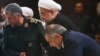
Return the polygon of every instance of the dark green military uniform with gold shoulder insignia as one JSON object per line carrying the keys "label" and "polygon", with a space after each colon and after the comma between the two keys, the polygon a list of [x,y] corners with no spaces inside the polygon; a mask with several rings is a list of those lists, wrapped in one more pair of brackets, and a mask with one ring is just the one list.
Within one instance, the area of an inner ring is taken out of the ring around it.
{"label": "dark green military uniform with gold shoulder insignia", "polygon": [[19,56],[26,52],[26,56],[41,56],[41,40],[44,28],[35,19],[25,19],[22,26],[4,27],[4,56]]}

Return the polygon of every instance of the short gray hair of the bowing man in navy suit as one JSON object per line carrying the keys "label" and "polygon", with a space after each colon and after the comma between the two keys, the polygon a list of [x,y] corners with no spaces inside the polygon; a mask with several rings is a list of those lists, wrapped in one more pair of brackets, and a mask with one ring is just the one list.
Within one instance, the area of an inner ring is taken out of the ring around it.
{"label": "short gray hair of the bowing man in navy suit", "polygon": [[67,31],[67,29],[58,24],[48,25],[45,29],[45,33],[47,34],[53,34],[53,33],[63,34],[65,31]]}

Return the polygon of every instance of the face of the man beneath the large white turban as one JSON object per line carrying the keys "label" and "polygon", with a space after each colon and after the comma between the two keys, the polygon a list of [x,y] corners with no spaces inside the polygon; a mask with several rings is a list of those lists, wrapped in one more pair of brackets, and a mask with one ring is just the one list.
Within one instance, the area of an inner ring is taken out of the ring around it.
{"label": "face of the man beneath the large white turban", "polygon": [[51,10],[47,10],[41,7],[39,8],[39,13],[40,13],[41,20],[46,22],[49,22],[53,17]]}

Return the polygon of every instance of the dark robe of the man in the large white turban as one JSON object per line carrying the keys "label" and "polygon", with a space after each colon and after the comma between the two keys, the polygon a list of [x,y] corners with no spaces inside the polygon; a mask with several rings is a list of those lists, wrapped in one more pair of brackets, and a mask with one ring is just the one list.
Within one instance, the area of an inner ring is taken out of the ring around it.
{"label": "dark robe of the man in the large white turban", "polygon": [[49,22],[49,24],[59,24],[59,25],[66,27],[69,30],[75,30],[75,31],[77,30],[76,26],[70,20],[70,18],[68,18],[67,16],[65,16],[61,13],[58,13],[56,18],[54,20],[52,20],[51,22]]}

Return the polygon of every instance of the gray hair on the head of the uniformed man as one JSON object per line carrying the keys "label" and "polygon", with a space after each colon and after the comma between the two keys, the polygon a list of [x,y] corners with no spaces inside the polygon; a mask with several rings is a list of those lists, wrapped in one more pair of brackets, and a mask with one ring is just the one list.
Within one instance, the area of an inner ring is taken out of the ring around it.
{"label": "gray hair on the head of the uniformed man", "polygon": [[5,12],[10,12],[12,14],[20,13],[22,15],[22,10],[17,3],[10,3],[8,4],[5,9]]}

